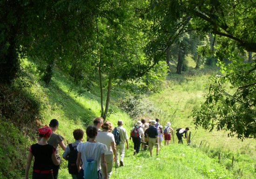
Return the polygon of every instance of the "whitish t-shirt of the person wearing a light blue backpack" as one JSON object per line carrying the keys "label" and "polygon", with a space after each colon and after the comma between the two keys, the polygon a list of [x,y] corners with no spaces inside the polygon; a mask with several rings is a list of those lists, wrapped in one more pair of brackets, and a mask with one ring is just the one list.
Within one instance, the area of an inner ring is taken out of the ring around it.
{"label": "whitish t-shirt of the person wearing a light blue backpack", "polygon": [[93,159],[97,161],[98,171],[101,170],[101,154],[107,150],[107,146],[99,142],[85,142],[78,144],[77,151],[81,152],[83,162],[82,169],[84,169],[84,163],[87,159]]}

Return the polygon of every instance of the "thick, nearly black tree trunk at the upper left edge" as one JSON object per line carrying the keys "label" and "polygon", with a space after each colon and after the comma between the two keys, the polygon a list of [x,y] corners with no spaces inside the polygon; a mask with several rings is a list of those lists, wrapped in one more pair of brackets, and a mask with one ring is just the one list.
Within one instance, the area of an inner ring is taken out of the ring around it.
{"label": "thick, nearly black tree trunk at the upper left edge", "polygon": [[[1,12],[1,25],[4,26],[1,27],[2,34],[0,40],[0,83],[10,85],[20,67],[19,56],[16,50],[16,38],[20,32],[20,19],[24,13],[24,7],[22,1],[14,0],[3,3],[3,6],[7,7],[9,12]],[[15,17],[15,20],[12,20],[13,17]]]}

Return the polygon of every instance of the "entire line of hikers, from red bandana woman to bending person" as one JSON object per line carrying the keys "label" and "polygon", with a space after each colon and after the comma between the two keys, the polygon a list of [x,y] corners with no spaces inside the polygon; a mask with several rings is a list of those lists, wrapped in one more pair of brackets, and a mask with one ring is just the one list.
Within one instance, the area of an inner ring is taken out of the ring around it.
{"label": "entire line of hikers, from red bandana woman to bending person", "polygon": [[[75,129],[73,136],[75,141],[65,146],[64,138],[56,134],[59,122],[52,119],[49,126],[40,128],[39,138],[36,144],[30,146],[25,169],[25,179],[28,179],[29,168],[34,157],[32,179],[58,179],[58,172],[61,163],[61,155],[58,150],[60,146],[64,153],[63,159],[68,160],[68,172],[72,179],[109,179],[115,163],[116,167],[124,166],[125,144],[129,148],[128,133],[122,126],[122,120],[118,120],[117,126],[113,128],[111,122],[102,118],[95,118],[94,125],[86,129],[87,139],[82,142],[84,132]],[[171,139],[170,122],[163,127],[159,124],[159,119],[148,121],[145,119],[137,121],[130,131],[130,139],[134,143],[134,155],[141,150],[150,149],[152,157],[153,147],[156,147],[156,155],[159,152],[164,139],[165,145]],[[176,135],[179,143],[182,142],[182,134],[189,130],[179,128]],[[163,138],[164,136],[164,138]],[[120,154],[119,154],[120,153]],[[120,158],[120,159],[119,159]]]}

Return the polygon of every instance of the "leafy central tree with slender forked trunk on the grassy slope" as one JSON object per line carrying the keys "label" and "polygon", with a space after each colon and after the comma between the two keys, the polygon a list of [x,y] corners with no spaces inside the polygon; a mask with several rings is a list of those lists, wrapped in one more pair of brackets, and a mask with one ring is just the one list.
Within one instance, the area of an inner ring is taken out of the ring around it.
{"label": "leafy central tree with slender forked trunk on the grassy slope", "polygon": [[[145,58],[143,53],[147,39],[144,38],[142,32],[144,27],[141,27],[141,19],[135,12],[141,2],[110,1],[108,3],[101,7],[97,23],[99,43],[97,54],[103,119],[107,118],[111,89],[115,85],[144,83],[149,89],[154,89],[154,85],[151,85],[161,79],[154,79],[152,76],[162,71],[162,68],[157,68],[157,64],[148,67],[152,61]],[[156,70],[155,73],[153,73],[154,70]],[[108,84],[105,109],[102,90],[103,76]],[[144,78],[145,76],[147,78]]]}

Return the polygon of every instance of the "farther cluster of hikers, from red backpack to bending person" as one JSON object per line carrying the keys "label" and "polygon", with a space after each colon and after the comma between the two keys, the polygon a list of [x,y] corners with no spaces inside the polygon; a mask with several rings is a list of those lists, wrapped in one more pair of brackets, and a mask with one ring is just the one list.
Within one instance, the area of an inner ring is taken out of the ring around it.
{"label": "farther cluster of hikers, from red backpack to bending person", "polygon": [[[171,133],[174,131],[171,127],[171,123],[167,122],[166,126],[163,129],[163,126],[159,123],[160,119],[156,118],[155,120],[149,120],[146,123],[145,119],[141,119],[141,121],[137,121],[135,126],[132,128],[130,132],[130,139],[133,140],[134,143],[134,155],[136,155],[140,151],[145,151],[146,147],[149,148],[150,156],[152,157],[152,151],[154,146],[156,147],[156,156],[158,155],[159,148],[162,144],[162,140],[164,139],[164,145],[169,145],[171,140]],[[178,143],[182,143],[183,134],[185,134],[185,138],[187,138],[187,131],[189,127],[178,128],[176,129],[176,136],[178,138]],[[142,145],[141,145],[142,144]]]}

